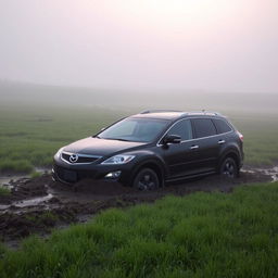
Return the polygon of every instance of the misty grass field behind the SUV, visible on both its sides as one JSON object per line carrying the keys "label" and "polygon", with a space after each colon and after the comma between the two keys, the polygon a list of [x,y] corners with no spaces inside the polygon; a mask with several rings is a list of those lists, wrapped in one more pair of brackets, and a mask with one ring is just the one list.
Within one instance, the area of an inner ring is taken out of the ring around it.
{"label": "misty grass field behind the SUV, visible on both its sides", "polygon": [[[1,105],[0,105],[1,106]],[[0,170],[31,172],[50,166],[62,146],[96,134],[114,121],[136,113],[74,106],[1,106]],[[277,114],[229,113],[244,135],[245,163],[270,165],[278,161]]]}

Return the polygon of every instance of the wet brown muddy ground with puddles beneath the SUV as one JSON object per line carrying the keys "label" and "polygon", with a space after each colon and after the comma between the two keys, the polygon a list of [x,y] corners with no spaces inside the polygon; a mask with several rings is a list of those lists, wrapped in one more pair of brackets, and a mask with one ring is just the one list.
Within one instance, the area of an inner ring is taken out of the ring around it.
{"label": "wet brown muddy ground with puddles beneath the SUV", "polygon": [[116,182],[89,179],[73,188],[53,182],[50,174],[33,179],[21,178],[10,182],[10,195],[0,195],[0,240],[16,247],[18,240],[29,235],[46,236],[53,228],[86,222],[109,207],[150,203],[166,194],[186,195],[215,190],[228,193],[244,184],[276,178],[277,173],[247,167],[235,180],[215,175],[167,185],[155,191],[137,191]]}

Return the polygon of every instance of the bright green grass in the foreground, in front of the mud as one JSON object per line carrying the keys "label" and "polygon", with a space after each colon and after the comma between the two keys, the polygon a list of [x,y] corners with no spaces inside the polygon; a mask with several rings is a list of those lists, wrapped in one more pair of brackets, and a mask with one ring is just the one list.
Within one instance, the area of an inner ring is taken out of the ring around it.
{"label": "bright green grass in the foreground, in front of the mud", "polygon": [[278,277],[278,184],[167,197],[0,247],[0,277]]}

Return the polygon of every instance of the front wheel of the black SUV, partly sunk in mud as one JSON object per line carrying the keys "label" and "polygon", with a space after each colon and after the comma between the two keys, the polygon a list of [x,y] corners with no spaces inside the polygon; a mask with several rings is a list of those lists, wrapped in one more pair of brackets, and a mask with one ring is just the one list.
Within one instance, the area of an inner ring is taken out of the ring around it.
{"label": "front wheel of the black SUV, partly sunk in mud", "polygon": [[138,190],[154,190],[160,187],[157,174],[150,168],[139,170],[134,179],[132,187]]}

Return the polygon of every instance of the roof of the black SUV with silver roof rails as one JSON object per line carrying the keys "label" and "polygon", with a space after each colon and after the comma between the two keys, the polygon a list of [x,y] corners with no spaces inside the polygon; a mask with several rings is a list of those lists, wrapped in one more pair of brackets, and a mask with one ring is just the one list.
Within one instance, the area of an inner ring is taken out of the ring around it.
{"label": "roof of the black SUV with silver roof rails", "polygon": [[132,115],[131,117],[140,117],[140,118],[161,118],[161,119],[177,119],[177,118],[182,118],[187,116],[214,116],[214,117],[223,117],[219,113],[217,112],[184,112],[184,111],[170,111],[170,110],[147,110],[143,111],[139,114]]}

